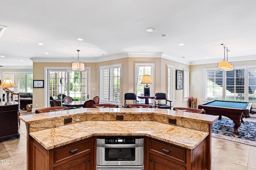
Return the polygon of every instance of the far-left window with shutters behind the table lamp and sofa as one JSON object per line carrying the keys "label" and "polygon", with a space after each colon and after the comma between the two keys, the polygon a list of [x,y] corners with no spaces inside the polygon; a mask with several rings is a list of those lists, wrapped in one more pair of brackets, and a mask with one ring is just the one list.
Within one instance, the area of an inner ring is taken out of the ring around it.
{"label": "far-left window with shutters behind the table lamp and sofa", "polygon": [[16,85],[15,88],[9,88],[15,93],[33,92],[33,74],[31,73],[3,73],[3,80],[10,78]]}

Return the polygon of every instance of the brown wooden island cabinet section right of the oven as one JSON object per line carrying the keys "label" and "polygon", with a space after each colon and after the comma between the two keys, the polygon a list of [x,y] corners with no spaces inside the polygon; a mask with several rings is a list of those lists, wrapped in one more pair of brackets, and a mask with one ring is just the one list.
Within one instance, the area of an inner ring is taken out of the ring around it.
{"label": "brown wooden island cabinet section right of the oven", "polygon": [[[195,149],[186,149],[152,138],[145,138],[148,150],[145,154],[149,170],[205,170],[206,139]],[[148,143],[148,144],[147,144]]]}

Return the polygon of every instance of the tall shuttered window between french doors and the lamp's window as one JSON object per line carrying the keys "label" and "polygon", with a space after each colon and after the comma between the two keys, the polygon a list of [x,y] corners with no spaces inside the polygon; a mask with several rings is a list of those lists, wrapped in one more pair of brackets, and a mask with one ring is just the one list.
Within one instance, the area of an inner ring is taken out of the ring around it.
{"label": "tall shuttered window between french doors and the lamp's window", "polygon": [[122,64],[100,66],[100,102],[121,104]]}

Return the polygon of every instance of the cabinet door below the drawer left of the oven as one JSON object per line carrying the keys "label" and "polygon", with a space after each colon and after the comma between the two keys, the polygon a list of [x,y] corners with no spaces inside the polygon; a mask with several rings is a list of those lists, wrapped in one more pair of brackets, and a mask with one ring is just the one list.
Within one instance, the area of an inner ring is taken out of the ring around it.
{"label": "cabinet door below the drawer left of the oven", "polygon": [[71,160],[65,164],[57,166],[54,170],[90,170],[91,168],[91,153]]}

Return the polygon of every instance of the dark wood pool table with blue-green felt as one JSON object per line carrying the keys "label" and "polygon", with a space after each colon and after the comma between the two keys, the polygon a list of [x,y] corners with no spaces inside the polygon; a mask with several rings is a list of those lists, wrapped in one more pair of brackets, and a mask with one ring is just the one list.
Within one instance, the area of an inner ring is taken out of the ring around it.
{"label": "dark wood pool table with blue-green felt", "polygon": [[250,117],[249,113],[252,109],[252,103],[211,100],[199,104],[198,109],[204,109],[208,115],[218,115],[219,119],[222,118],[222,115],[230,118],[235,124],[234,133],[238,134],[238,127],[240,127],[241,122],[244,122],[243,118]]}

